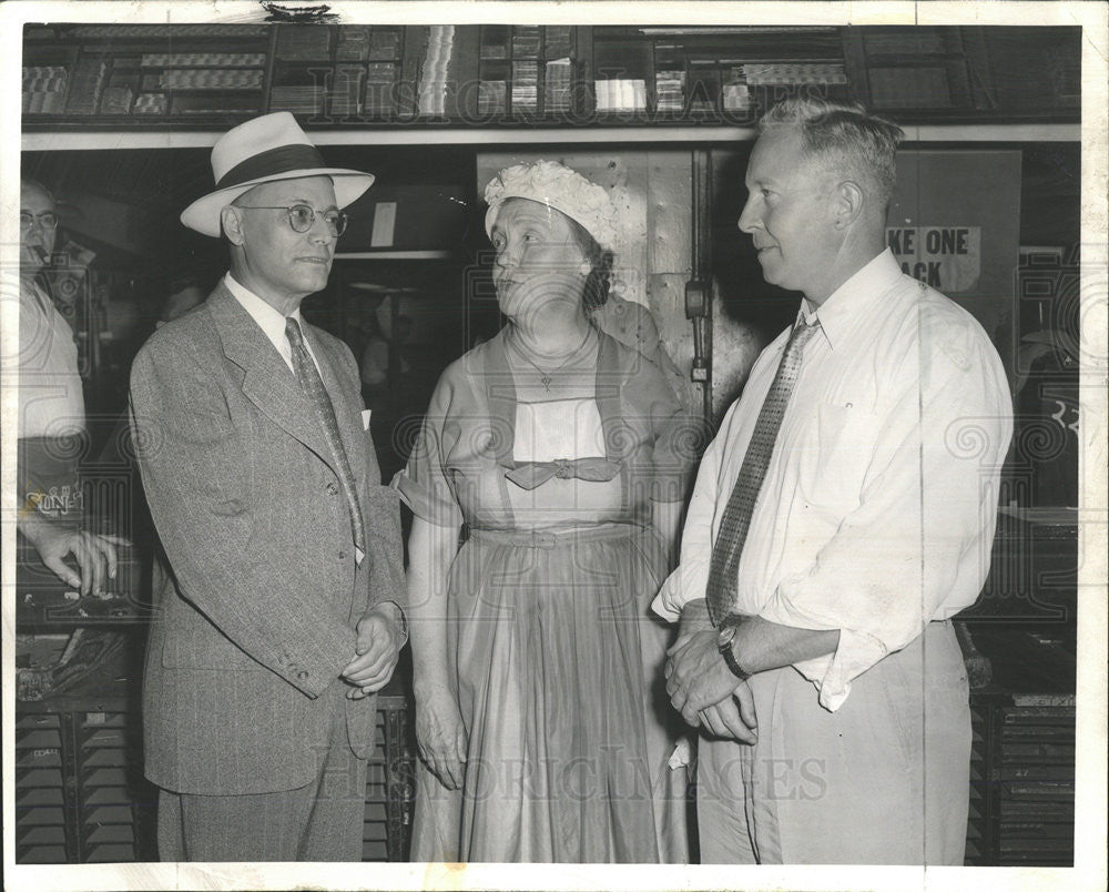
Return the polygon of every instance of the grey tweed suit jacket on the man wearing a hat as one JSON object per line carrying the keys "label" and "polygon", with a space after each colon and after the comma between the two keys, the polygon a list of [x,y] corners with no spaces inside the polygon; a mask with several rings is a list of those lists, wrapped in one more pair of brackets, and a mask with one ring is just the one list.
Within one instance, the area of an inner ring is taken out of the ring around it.
{"label": "grey tweed suit jacket on the man wearing a hat", "polygon": [[143,679],[147,777],[183,793],[307,783],[335,710],[373,747],[376,698],[339,672],[375,604],[404,604],[399,505],[362,417],[349,348],[304,326],[357,485],[367,554],[355,561],[335,459],[296,377],[221,283],[135,358],[131,412],[167,561],[155,579]]}

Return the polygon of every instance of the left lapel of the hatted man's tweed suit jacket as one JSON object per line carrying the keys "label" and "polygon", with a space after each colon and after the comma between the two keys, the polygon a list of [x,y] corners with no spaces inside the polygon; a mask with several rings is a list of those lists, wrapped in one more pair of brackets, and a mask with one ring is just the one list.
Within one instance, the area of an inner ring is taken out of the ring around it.
{"label": "left lapel of the hatted man's tweed suit jacket", "polygon": [[315,408],[269,338],[222,283],[208,305],[224,354],[243,369],[243,395],[337,473]]}

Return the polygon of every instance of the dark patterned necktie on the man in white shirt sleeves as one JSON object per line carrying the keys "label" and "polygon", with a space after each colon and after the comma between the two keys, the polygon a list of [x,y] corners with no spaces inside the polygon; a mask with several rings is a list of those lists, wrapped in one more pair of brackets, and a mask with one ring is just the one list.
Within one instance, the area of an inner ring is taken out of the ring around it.
{"label": "dark patterned necktie on the man in white shirt sleeves", "polygon": [[759,490],[766,476],[770,457],[774,453],[774,440],[777,438],[777,429],[782,426],[782,416],[790,403],[793,386],[797,383],[805,344],[816,334],[820,326],[818,320],[812,325],[794,325],[785,345],[785,353],[782,355],[782,363],[777,367],[777,374],[774,375],[774,383],[770,386],[766,401],[759,413],[759,420],[755,422],[755,429],[751,435],[751,443],[747,444],[747,452],[743,456],[735,488],[732,489],[728,507],[724,508],[720,533],[716,534],[716,543],[712,548],[709,587],[705,592],[709,618],[713,626],[720,625],[720,620],[728,616],[735,602],[740,555],[743,554],[743,544],[751,526],[751,513],[754,510],[755,499],[759,498]]}

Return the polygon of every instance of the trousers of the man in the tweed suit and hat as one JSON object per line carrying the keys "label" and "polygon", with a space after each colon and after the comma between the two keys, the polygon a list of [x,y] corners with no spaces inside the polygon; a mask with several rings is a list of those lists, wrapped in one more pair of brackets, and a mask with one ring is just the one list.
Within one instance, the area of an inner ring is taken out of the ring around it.
{"label": "trousers of the man in the tweed suit and hat", "polygon": [[162,861],[362,861],[366,760],[347,742],[343,685],[333,699],[330,737],[319,770],[295,790],[197,795],[161,790]]}

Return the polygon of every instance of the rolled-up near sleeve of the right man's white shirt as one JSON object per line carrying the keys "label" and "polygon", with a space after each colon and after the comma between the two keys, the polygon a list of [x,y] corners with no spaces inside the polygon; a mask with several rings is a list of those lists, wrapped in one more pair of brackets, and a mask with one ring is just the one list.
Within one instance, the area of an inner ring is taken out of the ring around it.
{"label": "rolled-up near sleeve of the right man's white shirt", "polygon": [[985,334],[944,334],[906,359],[905,386],[876,416],[858,507],[760,611],[785,626],[840,630],[834,653],[796,665],[830,710],[929,621],[974,604],[989,569],[1011,403]]}

